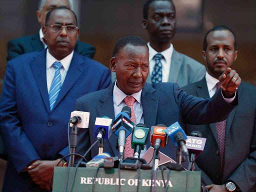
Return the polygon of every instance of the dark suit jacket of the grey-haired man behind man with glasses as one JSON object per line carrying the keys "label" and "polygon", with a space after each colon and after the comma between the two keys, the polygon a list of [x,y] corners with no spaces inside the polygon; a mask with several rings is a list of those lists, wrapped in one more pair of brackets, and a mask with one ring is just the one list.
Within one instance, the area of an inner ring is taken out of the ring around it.
{"label": "dark suit jacket of the grey-haired man behind man with glasses", "polygon": [[[19,38],[12,39],[7,43],[7,61],[13,59],[21,54],[33,52],[37,50],[44,49],[42,42],[40,41],[39,33],[34,35],[22,36]],[[85,42],[81,42],[79,40],[76,41],[76,45],[74,50],[83,56],[87,56],[88,58],[93,58],[96,49],[94,46],[87,44]]]}

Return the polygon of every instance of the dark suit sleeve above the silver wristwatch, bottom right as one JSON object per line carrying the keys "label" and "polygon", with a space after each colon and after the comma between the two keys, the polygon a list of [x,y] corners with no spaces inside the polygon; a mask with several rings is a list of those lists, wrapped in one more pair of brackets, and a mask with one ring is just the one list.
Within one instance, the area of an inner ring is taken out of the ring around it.
{"label": "dark suit sleeve above the silver wristwatch, bottom right", "polygon": [[[234,183],[241,189],[242,192],[247,192],[256,183],[256,117],[254,116],[254,128],[251,137],[250,154],[241,162],[235,169],[228,180]],[[239,141],[237,141],[239,142]],[[235,152],[235,151],[233,151]]]}

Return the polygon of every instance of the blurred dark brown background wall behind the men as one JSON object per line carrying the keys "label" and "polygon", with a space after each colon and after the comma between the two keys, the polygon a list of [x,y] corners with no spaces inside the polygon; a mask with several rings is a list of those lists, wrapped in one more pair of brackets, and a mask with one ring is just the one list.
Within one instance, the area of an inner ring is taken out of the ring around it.
{"label": "blurred dark brown background wall behind the men", "polygon": [[[73,0],[73,9],[78,14],[79,39],[96,47],[95,60],[108,66],[115,42],[125,35],[139,35],[148,40],[147,32],[141,27],[145,1]],[[177,5],[180,1],[183,2],[176,6],[176,12],[181,11],[182,3],[193,4],[198,0],[174,0],[174,3]],[[6,44],[13,38],[38,32],[37,3],[38,0],[0,0],[0,92],[6,66]],[[200,6],[201,16],[196,17],[199,19],[196,22],[201,26],[196,30],[177,30],[172,41],[174,48],[204,64],[201,56],[204,34],[214,25],[226,25],[236,33],[238,44],[233,68],[243,80],[256,84],[256,0],[201,0]],[[177,15],[177,23],[181,22]],[[2,171],[4,168],[0,168]]]}

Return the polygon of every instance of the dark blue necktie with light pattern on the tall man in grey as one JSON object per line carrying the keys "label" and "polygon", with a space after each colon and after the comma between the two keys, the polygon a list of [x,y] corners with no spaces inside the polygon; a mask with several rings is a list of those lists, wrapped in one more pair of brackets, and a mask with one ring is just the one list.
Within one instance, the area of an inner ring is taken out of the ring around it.
{"label": "dark blue necktie with light pattern on the tall man in grey", "polygon": [[151,75],[152,84],[162,81],[162,58],[163,56],[160,53],[154,55],[155,64]]}

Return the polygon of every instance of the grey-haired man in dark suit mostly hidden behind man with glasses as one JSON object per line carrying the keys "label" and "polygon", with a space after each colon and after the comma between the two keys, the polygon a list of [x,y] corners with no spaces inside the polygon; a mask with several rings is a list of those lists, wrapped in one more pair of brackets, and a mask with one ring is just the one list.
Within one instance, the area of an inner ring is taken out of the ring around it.
{"label": "grey-haired man in dark suit mostly hidden behind man with glasses", "polygon": [[[47,12],[59,6],[71,7],[70,0],[39,0],[38,10],[36,11],[36,16],[38,22],[41,26],[37,34],[22,36],[19,38],[12,39],[7,43],[7,61],[13,59],[20,54],[32,52],[36,50],[42,50],[47,47],[47,44],[44,42],[44,37],[42,34],[42,27],[44,26],[45,16]],[[83,56],[93,58],[96,50],[95,47],[87,44],[85,42],[76,41],[74,50]]]}

